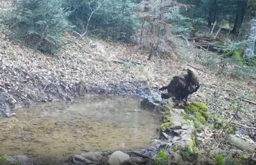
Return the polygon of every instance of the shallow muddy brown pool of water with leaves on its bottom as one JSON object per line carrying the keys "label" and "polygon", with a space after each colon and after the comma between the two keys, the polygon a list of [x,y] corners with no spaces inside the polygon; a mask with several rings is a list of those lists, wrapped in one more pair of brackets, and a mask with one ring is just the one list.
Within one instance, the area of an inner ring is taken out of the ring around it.
{"label": "shallow muddy brown pool of water with leaves on its bottom", "polygon": [[39,104],[0,119],[0,155],[61,159],[84,151],[147,148],[157,137],[160,118],[133,98]]}

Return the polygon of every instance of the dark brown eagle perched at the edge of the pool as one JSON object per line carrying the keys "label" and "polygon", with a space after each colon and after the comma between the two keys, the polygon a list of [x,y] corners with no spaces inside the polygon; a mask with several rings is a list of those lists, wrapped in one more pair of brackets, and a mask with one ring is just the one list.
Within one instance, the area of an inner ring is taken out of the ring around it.
{"label": "dark brown eagle perched at the edge of the pool", "polygon": [[183,106],[182,101],[185,99],[186,104],[189,104],[187,97],[196,92],[200,85],[197,76],[190,69],[186,69],[187,74],[174,76],[168,86],[162,87],[159,90],[167,90],[168,93],[162,93],[162,99],[174,97],[177,99],[179,106]]}

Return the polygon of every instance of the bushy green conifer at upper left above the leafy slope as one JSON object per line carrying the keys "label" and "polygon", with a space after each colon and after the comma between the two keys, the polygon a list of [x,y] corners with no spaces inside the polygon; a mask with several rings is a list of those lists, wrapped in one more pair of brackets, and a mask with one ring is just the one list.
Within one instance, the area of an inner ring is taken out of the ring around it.
{"label": "bushy green conifer at upper left above the leafy slope", "polygon": [[40,51],[54,53],[63,41],[63,33],[70,29],[70,12],[64,11],[63,2],[16,0],[13,5],[14,10],[5,17],[12,37]]}

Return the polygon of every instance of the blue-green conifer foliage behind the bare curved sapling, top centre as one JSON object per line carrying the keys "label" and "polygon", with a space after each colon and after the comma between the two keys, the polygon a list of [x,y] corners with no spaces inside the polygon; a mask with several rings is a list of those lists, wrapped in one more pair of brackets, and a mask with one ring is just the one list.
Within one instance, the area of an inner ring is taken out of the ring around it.
{"label": "blue-green conifer foliage behind the bare curved sapling, top centre", "polygon": [[89,30],[112,40],[127,41],[139,28],[140,22],[133,12],[134,6],[135,2],[130,0],[66,0],[66,8],[72,11],[69,20],[76,25],[77,32],[85,32],[89,17],[95,11],[88,23]]}

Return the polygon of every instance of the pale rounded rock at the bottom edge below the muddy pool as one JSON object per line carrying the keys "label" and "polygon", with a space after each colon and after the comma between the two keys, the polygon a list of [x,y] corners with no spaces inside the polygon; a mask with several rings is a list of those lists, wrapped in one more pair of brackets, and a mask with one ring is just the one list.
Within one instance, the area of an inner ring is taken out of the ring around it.
{"label": "pale rounded rock at the bottom edge below the muddy pool", "polygon": [[121,151],[116,151],[113,154],[111,154],[110,156],[108,156],[106,164],[108,164],[108,165],[130,165],[130,164],[132,164],[132,161],[130,161],[129,154],[123,153]]}

